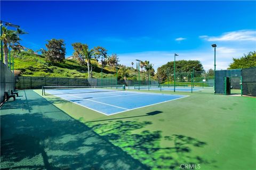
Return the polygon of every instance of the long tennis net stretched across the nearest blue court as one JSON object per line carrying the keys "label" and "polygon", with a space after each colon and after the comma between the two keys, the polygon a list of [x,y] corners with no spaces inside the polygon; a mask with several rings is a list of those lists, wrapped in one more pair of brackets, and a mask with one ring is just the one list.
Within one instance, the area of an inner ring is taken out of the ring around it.
{"label": "long tennis net stretched across the nearest blue court", "polygon": [[119,86],[42,86],[44,95],[68,95],[91,92],[111,92],[125,90],[124,85]]}

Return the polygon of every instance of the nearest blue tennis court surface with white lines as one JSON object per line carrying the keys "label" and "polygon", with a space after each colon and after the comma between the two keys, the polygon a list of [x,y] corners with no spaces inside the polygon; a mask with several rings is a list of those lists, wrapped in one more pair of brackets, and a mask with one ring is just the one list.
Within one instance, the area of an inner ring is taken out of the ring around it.
{"label": "nearest blue tennis court surface with white lines", "polygon": [[132,109],[187,97],[185,95],[114,90],[85,92],[83,89],[49,89],[45,92],[105,115],[131,111]]}

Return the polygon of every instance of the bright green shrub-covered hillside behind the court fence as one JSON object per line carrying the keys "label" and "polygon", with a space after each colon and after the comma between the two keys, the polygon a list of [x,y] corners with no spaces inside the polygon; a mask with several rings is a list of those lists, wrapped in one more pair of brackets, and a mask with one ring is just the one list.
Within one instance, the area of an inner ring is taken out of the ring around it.
{"label": "bright green shrub-covered hillside behind the court fence", "polygon": [[[87,78],[87,67],[80,66],[76,61],[65,60],[65,63],[47,65],[44,57],[28,52],[22,52],[14,57],[15,74],[34,77],[62,77],[62,78]],[[93,78],[101,78],[100,67],[95,67]],[[115,72],[103,70],[103,78],[114,77]]]}

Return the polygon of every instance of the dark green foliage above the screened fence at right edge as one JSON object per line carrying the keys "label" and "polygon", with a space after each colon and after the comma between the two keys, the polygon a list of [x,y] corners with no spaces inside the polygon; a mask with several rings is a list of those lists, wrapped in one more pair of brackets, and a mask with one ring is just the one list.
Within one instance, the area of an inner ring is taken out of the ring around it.
{"label": "dark green foliage above the screened fence at right edge", "polygon": [[256,67],[256,52],[249,52],[244,54],[241,58],[233,58],[233,63],[231,63],[228,69],[246,69],[250,67]]}

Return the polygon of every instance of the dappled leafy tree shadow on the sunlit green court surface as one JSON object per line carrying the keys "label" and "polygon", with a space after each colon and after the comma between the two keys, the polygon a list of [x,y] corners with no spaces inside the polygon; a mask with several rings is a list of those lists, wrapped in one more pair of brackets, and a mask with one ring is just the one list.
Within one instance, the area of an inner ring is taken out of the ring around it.
{"label": "dappled leafy tree shadow on the sunlit green court surface", "polygon": [[[179,169],[181,164],[212,165],[215,163],[214,160],[209,161],[193,153],[193,149],[207,145],[203,141],[180,134],[162,137],[162,131],[134,132],[142,128],[147,129],[146,126],[152,124],[149,121],[118,120],[95,123],[86,124],[151,169]],[[161,147],[161,140],[166,141],[170,147]]]}

